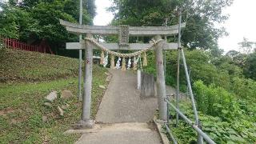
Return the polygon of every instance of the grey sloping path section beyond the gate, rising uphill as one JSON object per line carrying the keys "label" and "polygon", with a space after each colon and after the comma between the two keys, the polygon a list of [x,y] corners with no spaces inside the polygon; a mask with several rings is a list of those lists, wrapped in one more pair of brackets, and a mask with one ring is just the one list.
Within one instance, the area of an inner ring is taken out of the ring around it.
{"label": "grey sloping path section beyond the gate, rising uphill", "polygon": [[96,115],[97,122],[147,122],[154,117],[157,98],[140,98],[136,74],[110,70],[113,75]]}

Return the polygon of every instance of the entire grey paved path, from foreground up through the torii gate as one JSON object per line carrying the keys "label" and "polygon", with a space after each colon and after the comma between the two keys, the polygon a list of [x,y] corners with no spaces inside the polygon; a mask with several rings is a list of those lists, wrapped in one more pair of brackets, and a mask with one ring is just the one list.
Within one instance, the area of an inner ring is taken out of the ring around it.
{"label": "entire grey paved path, from foreground up through the torii gate", "polygon": [[96,115],[98,124],[83,131],[78,144],[160,144],[154,126],[147,124],[158,107],[157,98],[140,98],[136,74],[110,70],[113,75]]}

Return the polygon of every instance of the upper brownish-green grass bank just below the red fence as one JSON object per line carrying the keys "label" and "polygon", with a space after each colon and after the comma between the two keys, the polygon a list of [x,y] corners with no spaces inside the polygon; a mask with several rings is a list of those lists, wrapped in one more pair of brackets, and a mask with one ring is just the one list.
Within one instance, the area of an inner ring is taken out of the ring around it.
{"label": "upper brownish-green grass bank just below the red fence", "polygon": [[78,60],[23,50],[0,50],[0,82],[38,82],[78,74]]}

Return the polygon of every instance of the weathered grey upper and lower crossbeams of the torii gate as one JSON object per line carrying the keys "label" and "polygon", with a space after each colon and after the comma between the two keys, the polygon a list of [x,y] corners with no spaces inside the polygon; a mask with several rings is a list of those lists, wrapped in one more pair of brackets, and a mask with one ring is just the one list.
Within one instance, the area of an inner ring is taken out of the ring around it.
{"label": "weathered grey upper and lower crossbeams of the torii gate", "polygon": [[[170,36],[178,34],[178,25],[174,26],[87,26],[60,20],[62,26],[73,34],[98,34],[98,35],[119,35],[118,43],[102,42],[101,45],[109,50],[142,50],[150,46],[149,43],[129,43],[129,36]],[[181,27],[185,27],[182,23]],[[66,49],[84,49],[79,42],[66,43]],[[177,50],[178,43],[163,42],[163,50]]]}

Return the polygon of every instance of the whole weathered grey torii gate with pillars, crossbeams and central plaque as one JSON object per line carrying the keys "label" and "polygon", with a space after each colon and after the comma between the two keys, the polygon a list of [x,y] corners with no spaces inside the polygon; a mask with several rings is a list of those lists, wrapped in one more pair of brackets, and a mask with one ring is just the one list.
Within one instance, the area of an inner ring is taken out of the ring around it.
{"label": "whole weathered grey torii gate with pillars, crossbeams and central plaque", "polygon": [[[155,45],[156,68],[157,68],[157,94],[160,119],[166,121],[166,82],[163,68],[162,50],[178,50],[178,43],[160,41],[162,36],[178,34],[178,25],[175,26],[86,26],[60,20],[66,30],[74,34],[86,34],[86,38],[93,38],[97,35],[119,35],[118,43],[100,42],[99,44],[109,50],[143,50],[149,47],[150,43],[129,43],[129,36],[154,37],[158,43]],[[182,23],[181,27],[185,27]],[[93,45],[88,41],[68,42],[66,49],[85,50],[85,76],[84,94],[82,98],[82,120],[78,122],[78,128],[92,128],[94,121],[90,119],[91,88],[92,88],[92,66],[93,66]]]}

